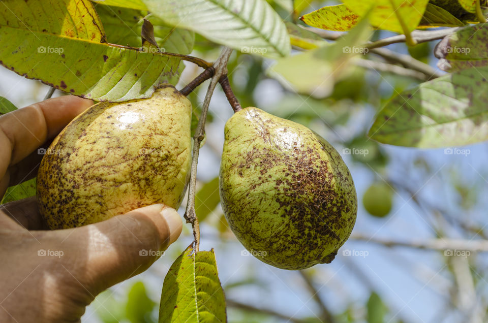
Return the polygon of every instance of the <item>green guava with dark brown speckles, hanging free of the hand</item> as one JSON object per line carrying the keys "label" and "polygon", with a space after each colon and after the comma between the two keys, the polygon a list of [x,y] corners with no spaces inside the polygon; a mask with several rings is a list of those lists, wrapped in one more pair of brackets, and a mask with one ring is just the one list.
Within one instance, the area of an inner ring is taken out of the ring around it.
{"label": "green guava with dark brown speckles, hanging free of the hand", "polygon": [[339,153],[306,126],[254,107],[225,125],[219,185],[237,239],[278,268],[330,263],[356,220],[356,190]]}

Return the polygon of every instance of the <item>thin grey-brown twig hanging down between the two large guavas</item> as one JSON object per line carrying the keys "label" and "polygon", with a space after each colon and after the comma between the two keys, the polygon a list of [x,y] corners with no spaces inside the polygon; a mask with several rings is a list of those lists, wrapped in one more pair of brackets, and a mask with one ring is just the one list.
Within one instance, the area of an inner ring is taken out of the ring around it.
{"label": "thin grey-brown twig hanging down between the two large guavas", "polygon": [[198,165],[198,154],[200,151],[200,144],[205,137],[205,120],[207,118],[208,106],[210,104],[210,99],[214,93],[215,87],[219,82],[219,79],[227,74],[227,61],[232,53],[232,49],[229,47],[224,47],[219,58],[214,63],[215,74],[212,77],[210,84],[208,85],[207,94],[203,100],[202,113],[200,114],[200,120],[198,121],[197,129],[195,131],[195,136],[193,137],[193,153],[192,153],[192,168],[190,172],[190,185],[188,188],[188,202],[185,211],[185,219],[187,223],[192,223],[193,236],[195,241],[193,244],[193,251],[198,252],[200,248],[200,226],[198,223],[198,218],[195,213],[195,185],[197,181],[197,165]]}

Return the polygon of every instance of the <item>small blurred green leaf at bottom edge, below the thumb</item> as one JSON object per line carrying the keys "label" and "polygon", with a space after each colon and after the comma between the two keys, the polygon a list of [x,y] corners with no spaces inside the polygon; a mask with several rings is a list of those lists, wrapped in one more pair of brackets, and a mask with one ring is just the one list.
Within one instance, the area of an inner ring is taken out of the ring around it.
{"label": "small blurred green leaf at bottom edge, below the thumb", "polygon": [[156,303],[147,296],[142,281],[132,285],[127,295],[126,316],[132,323],[149,323]]}

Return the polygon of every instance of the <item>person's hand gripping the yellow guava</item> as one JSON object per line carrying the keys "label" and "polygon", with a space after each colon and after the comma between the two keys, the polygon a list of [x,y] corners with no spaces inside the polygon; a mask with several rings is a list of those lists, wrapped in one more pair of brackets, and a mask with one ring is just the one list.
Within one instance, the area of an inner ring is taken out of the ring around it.
{"label": "person's hand gripping the yellow guava", "polygon": [[[35,176],[37,148],[92,104],[69,95],[0,117],[0,197]],[[97,294],[158,259],[142,250],[166,249],[181,227],[178,213],[162,204],[56,231],[41,231],[47,227],[35,198],[0,206],[0,321],[80,321]]]}

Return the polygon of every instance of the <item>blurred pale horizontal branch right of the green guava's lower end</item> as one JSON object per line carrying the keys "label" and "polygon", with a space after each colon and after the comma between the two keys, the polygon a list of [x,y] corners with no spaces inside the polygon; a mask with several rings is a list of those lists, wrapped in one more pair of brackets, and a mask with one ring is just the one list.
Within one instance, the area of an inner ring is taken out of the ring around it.
{"label": "blurred pale horizontal branch right of the green guava's lower end", "polygon": [[466,250],[473,252],[488,252],[488,240],[465,239],[425,239],[417,241],[400,241],[393,239],[378,239],[361,234],[351,235],[350,240],[372,242],[385,247],[409,247],[430,250]]}

